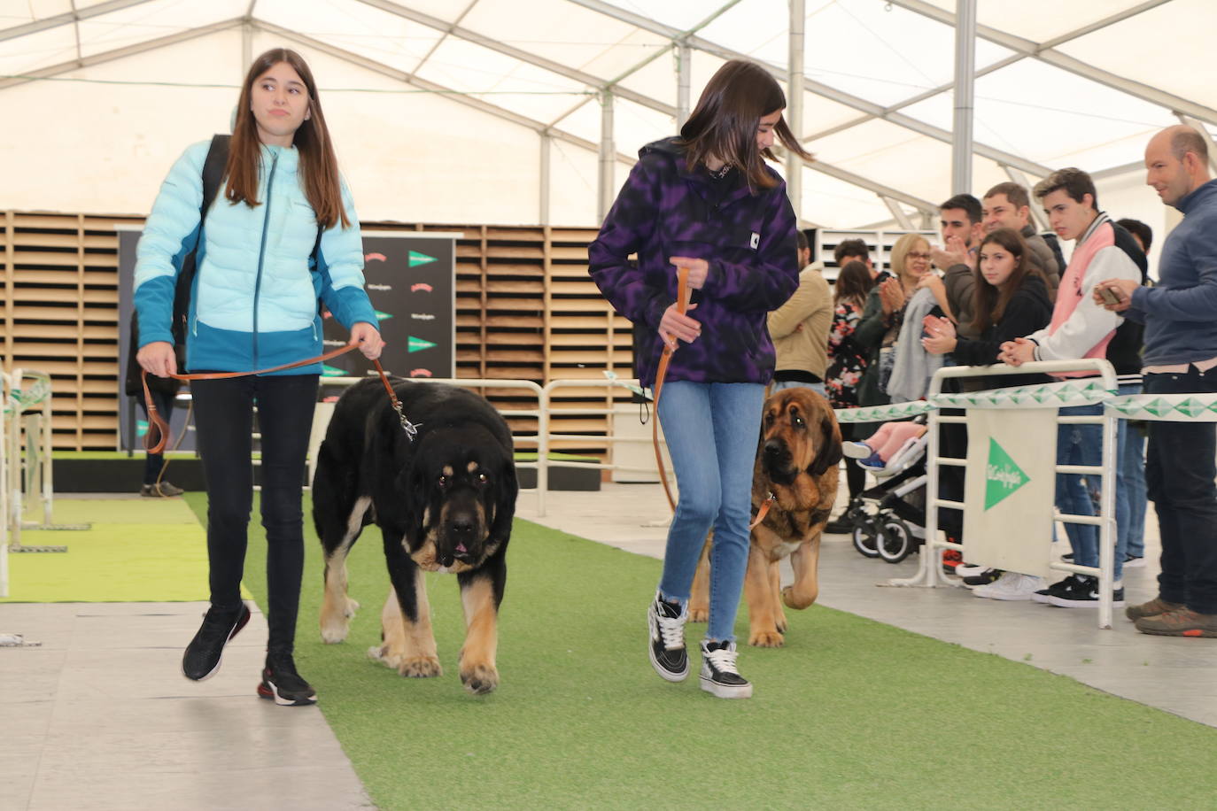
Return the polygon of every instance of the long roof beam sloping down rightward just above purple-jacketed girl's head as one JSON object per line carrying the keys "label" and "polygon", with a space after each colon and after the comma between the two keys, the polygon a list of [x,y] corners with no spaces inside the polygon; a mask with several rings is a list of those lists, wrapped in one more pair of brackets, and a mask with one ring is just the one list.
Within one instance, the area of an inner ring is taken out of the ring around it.
{"label": "long roof beam sloping down rightward just above purple-jacketed girl's head", "polygon": [[[607,17],[612,17],[621,22],[630,23],[644,30],[649,30],[654,34],[667,36],[668,39],[673,40],[682,39],[682,32],[679,32],[678,29],[672,28],[671,26],[664,26],[654,19],[647,19],[646,17],[643,17],[640,15],[624,11],[623,9],[618,9],[617,6],[608,5],[607,2],[604,2],[604,0],[567,0],[567,1],[583,6],[584,9],[590,9],[591,11],[598,11]],[[700,51],[705,51],[706,53],[711,53],[719,58],[751,60],[764,67],[767,71],[769,71],[776,79],[780,79],[781,81],[786,81],[787,79],[786,72],[776,64],[773,64],[770,62],[762,62],[759,60],[748,56],[747,53],[733,51],[729,47],[724,47],[722,45],[718,45],[717,43],[702,39],[701,36],[688,36],[684,38],[684,41],[686,41],[691,47],[696,47]],[[880,118],[891,124],[896,124],[897,126],[903,126],[904,129],[913,130],[914,133],[918,133],[920,135],[925,135],[937,141],[942,141],[943,143],[950,143],[952,140],[950,133],[948,130],[942,129],[941,126],[933,126],[931,124],[926,124],[925,122],[920,122],[915,118],[909,118],[908,116],[904,116],[902,113],[887,112],[884,107],[876,105],[873,101],[867,101],[865,98],[860,98],[858,96],[843,92],[821,81],[815,81],[811,77],[804,75],[803,89],[811,94],[828,98],[829,101],[835,101],[839,105],[845,105],[846,107],[852,107],[857,111],[867,113],[871,118]],[[1036,176],[1042,178],[1051,173],[1051,169],[1049,169],[1048,167],[1041,165],[1033,160],[1028,160],[1021,156],[1013,154],[1003,150],[997,150],[985,143],[974,143],[974,152],[983,158],[988,158],[989,160],[996,160],[997,163],[1004,163],[1006,165],[1022,169],[1023,171]]]}

